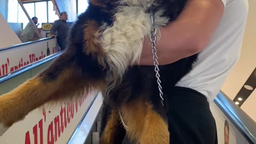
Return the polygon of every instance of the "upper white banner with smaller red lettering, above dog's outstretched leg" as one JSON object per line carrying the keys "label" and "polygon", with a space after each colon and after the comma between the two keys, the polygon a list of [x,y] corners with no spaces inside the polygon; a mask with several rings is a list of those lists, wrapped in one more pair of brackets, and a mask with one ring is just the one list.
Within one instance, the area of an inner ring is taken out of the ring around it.
{"label": "upper white banner with smaller red lettering, above dog's outstretched leg", "polygon": [[56,38],[0,50],[0,77],[56,53]]}

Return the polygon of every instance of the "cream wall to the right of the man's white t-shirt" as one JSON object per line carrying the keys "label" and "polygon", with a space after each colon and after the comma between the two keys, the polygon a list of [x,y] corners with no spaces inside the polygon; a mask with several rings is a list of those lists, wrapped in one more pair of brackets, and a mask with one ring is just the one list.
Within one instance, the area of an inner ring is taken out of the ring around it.
{"label": "cream wall to the right of the man's white t-shirt", "polygon": [[[244,85],[247,78],[251,75],[256,67],[256,1],[249,0],[249,15],[245,29],[244,41],[242,46],[241,57],[231,70],[222,91],[228,95],[230,99],[234,99]],[[256,75],[256,74],[255,74]],[[256,82],[255,82],[256,83]],[[250,97],[243,103],[242,109],[256,122],[256,92],[254,91]]]}

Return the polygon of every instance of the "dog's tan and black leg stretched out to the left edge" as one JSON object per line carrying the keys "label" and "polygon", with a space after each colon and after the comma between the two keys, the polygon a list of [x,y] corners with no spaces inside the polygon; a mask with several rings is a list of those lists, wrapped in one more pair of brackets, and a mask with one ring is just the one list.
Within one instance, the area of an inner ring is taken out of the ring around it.
{"label": "dog's tan and black leg stretched out to the left edge", "polygon": [[0,135],[46,102],[60,102],[104,86],[103,77],[86,74],[76,55],[66,51],[42,73],[0,96]]}

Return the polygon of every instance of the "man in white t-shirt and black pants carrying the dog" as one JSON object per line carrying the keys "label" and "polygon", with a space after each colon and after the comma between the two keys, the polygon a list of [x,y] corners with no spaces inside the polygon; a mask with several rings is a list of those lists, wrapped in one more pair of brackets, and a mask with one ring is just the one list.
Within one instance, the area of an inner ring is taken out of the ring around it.
{"label": "man in white t-shirt and black pants carrying the dog", "polygon": [[[209,103],[239,58],[247,13],[247,0],[188,0],[178,19],[161,28],[159,65],[200,52],[168,95],[170,143],[218,143]],[[154,66],[149,43],[145,38],[139,65]]]}

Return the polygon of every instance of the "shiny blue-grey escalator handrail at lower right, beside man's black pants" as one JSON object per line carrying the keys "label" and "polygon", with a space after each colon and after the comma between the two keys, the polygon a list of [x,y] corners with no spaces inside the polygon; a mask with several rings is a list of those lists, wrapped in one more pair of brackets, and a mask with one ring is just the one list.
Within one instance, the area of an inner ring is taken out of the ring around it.
{"label": "shiny blue-grey escalator handrail at lower right, beside man's black pants", "polygon": [[219,92],[214,102],[236,126],[239,132],[250,143],[256,143],[256,123],[241,108],[227,97],[222,91]]}

